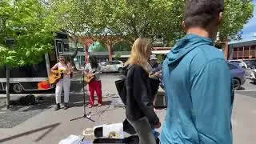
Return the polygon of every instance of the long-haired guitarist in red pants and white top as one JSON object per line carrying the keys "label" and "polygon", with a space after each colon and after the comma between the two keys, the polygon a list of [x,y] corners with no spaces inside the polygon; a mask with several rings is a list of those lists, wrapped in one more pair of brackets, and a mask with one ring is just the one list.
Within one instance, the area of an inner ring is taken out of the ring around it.
{"label": "long-haired guitarist in red pants and white top", "polygon": [[98,107],[102,106],[102,82],[99,75],[102,73],[101,66],[97,62],[95,56],[90,56],[90,63],[86,64],[84,71],[86,72],[86,82],[90,91],[90,108],[94,106],[94,91],[98,96]]}

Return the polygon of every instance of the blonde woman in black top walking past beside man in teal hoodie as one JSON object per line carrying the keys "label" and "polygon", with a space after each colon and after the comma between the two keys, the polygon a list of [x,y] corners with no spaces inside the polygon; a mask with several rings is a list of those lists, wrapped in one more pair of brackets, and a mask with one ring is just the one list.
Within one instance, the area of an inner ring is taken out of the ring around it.
{"label": "blonde woman in black top walking past beside man in teal hoodie", "polygon": [[126,62],[126,118],[136,130],[140,144],[155,144],[152,130],[159,128],[150,91],[148,59],[152,44],[147,38],[138,38]]}

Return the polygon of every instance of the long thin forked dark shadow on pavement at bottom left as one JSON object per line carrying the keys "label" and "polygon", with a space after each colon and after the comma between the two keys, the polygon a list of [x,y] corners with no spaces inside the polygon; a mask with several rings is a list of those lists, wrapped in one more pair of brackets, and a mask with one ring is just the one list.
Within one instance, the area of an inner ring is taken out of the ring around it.
{"label": "long thin forked dark shadow on pavement at bottom left", "polygon": [[19,138],[19,137],[23,137],[23,136],[26,136],[26,135],[29,135],[29,134],[33,134],[33,133],[36,133],[38,131],[41,131],[41,130],[46,130],[46,129],[49,129],[47,130],[45,133],[43,133],[40,137],[38,137],[37,139],[34,140],[34,142],[38,142],[40,141],[42,138],[44,138],[46,136],[46,134],[50,133],[50,131],[54,130],[56,127],[58,127],[61,123],[58,122],[58,123],[54,123],[53,125],[50,125],[50,126],[44,126],[42,128],[39,128],[39,129],[36,129],[36,130],[30,130],[30,131],[26,131],[22,134],[17,134],[17,135],[14,135],[14,136],[11,136],[9,138],[2,138],[0,139],[0,143],[2,142],[6,142],[6,141],[10,141],[12,139],[15,139],[15,138]]}

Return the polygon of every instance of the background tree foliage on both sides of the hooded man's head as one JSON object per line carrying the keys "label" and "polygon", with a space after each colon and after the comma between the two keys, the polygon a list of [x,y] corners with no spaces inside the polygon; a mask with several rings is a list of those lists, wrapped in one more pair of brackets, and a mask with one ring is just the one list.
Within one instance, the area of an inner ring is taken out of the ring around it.
{"label": "background tree foliage on both sides of the hooded man's head", "polygon": [[[185,0],[48,0],[50,7],[66,15],[59,23],[70,34],[118,35],[132,43],[139,36],[162,36],[174,46],[185,31],[182,27]],[[236,38],[253,16],[251,0],[225,0],[220,40]],[[58,14],[58,15],[60,15]]]}

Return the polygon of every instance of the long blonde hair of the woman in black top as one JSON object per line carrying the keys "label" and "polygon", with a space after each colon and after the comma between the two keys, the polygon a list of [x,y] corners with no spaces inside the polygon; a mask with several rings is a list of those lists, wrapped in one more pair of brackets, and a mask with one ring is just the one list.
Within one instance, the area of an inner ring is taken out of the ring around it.
{"label": "long blonde hair of the woman in black top", "polygon": [[134,42],[131,49],[130,58],[126,61],[125,66],[138,64],[148,71],[148,58],[150,58],[150,50],[152,43],[148,38],[138,38]]}

